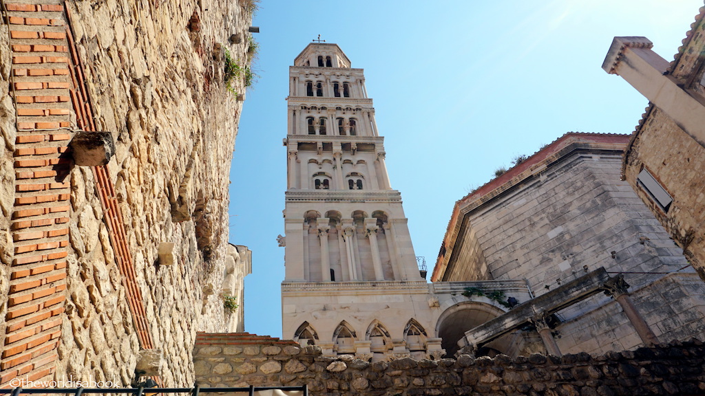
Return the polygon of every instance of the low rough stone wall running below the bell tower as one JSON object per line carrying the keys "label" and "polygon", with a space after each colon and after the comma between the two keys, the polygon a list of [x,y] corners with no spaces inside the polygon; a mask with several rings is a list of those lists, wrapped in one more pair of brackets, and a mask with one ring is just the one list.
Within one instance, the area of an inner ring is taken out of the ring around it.
{"label": "low rough stone wall running below the bell tower", "polygon": [[705,392],[705,347],[673,342],[633,352],[510,359],[323,357],[316,346],[242,334],[199,334],[202,386],[308,385],[312,395],[696,395]]}

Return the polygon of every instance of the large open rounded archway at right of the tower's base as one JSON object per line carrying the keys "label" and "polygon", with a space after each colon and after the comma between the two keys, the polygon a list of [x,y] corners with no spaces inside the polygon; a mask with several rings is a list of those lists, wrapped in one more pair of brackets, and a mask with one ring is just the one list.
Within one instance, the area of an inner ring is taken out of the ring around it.
{"label": "large open rounded archway at right of the tower's base", "polygon": [[505,311],[484,302],[459,302],[448,307],[436,321],[436,336],[442,338],[441,347],[446,356],[453,357],[460,347],[458,341],[465,337],[471,328],[504,314]]}

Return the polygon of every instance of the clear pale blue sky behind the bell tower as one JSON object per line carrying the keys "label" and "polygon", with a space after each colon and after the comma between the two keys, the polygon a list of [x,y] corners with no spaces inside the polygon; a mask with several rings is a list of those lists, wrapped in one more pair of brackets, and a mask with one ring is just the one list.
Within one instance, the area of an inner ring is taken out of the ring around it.
{"label": "clear pale blue sky behind the bell tower", "polygon": [[[281,336],[288,67],[321,35],[364,68],[417,256],[455,201],[565,132],[631,133],[648,101],[601,69],[614,36],[673,60],[702,0],[262,0],[259,81],[231,171],[230,241],[252,249],[245,330]],[[240,307],[243,307],[242,305]]]}

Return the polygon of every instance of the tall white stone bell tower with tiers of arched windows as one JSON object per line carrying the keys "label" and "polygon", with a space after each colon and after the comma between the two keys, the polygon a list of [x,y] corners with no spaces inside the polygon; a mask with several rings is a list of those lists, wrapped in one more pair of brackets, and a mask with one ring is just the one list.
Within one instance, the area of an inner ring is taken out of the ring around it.
{"label": "tall white stone bell tower with tiers of arched windows", "polygon": [[427,357],[430,328],[401,195],[362,69],[337,44],[309,44],[289,68],[283,337],[324,354]]}

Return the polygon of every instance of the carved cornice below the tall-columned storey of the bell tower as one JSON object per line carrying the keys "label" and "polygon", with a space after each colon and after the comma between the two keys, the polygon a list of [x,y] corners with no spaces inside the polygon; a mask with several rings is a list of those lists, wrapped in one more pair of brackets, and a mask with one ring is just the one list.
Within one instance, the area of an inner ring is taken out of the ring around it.
{"label": "carved cornice below the tall-columned storey of the bell tower", "polygon": [[360,282],[282,282],[281,292],[360,292],[362,290],[406,290],[411,292],[429,292],[429,283],[425,280],[412,281],[360,281]]}

